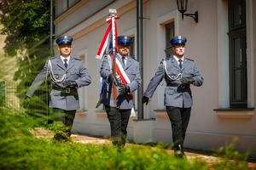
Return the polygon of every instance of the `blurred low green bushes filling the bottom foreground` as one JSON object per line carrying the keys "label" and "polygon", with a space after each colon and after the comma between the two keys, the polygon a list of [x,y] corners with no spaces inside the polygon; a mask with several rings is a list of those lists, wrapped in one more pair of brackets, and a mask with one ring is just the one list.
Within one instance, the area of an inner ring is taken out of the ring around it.
{"label": "blurred low green bushes filling the bottom foreground", "polygon": [[[248,169],[244,157],[233,161],[224,159],[218,164],[208,165],[202,159],[177,159],[160,145],[129,144],[119,150],[109,144],[38,139],[29,130],[37,123],[30,116],[21,115],[0,116],[0,169]],[[232,151],[229,154],[232,155]]]}

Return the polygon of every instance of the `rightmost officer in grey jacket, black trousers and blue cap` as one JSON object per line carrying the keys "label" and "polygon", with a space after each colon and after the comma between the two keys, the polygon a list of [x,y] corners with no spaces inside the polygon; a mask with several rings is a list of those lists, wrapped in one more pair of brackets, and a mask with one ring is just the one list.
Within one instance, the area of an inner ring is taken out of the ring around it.
{"label": "rightmost officer in grey jacket, black trousers and blue cap", "polygon": [[171,45],[174,55],[162,59],[160,65],[143,94],[142,102],[148,105],[155,89],[164,78],[166,112],[172,123],[172,140],[175,156],[183,157],[183,141],[189,125],[191,107],[193,104],[190,84],[200,87],[203,77],[193,59],[185,58],[186,37],[172,37]]}

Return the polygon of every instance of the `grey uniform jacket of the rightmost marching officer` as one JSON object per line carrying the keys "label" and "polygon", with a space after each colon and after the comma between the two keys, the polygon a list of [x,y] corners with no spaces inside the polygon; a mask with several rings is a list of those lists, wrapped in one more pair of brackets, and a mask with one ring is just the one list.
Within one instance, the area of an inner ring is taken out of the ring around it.
{"label": "grey uniform jacket of the rightmost marching officer", "polygon": [[[164,62],[166,62],[166,69],[164,68]],[[162,79],[165,78],[165,105],[180,108],[191,107],[193,105],[193,99],[190,85],[181,85],[180,78],[177,78],[179,74],[182,77],[193,77],[195,79],[195,82],[193,82],[194,86],[199,87],[203,83],[203,77],[201,77],[201,73],[193,59],[184,58],[183,68],[180,69],[177,60],[172,56],[171,58],[161,60],[154,77],[150,80],[148,88],[143,95],[149,99],[152,98],[155,89]]]}

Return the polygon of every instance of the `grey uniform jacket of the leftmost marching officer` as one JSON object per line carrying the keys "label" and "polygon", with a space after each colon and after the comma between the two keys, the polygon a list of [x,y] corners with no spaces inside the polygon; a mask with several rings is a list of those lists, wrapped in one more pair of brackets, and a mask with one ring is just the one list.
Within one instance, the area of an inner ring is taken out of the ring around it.
{"label": "grey uniform jacket of the leftmost marching officer", "polygon": [[[52,71],[56,79],[66,74],[64,81],[72,80],[77,82],[78,88],[87,86],[91,82],[90,75],[83,62],[80,59],[70,58],[67,69],[63,65],[61,57],[50,58]],[[43,70],[38,74],[32,82],[32,86],[28,89],[26,96],[32,97],[32,94],[44,82],[45,78],[49,77],[49,59],[46,61]],[[64,82],[63,81],[63,82]],[[51,92],[49,107],[59,108],[66,111],[74,111],[79,109],[79,94],[77,88],[72,88],[71,93],[67,94],[62,82],[55,82],[51,79]]]}

